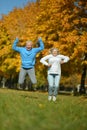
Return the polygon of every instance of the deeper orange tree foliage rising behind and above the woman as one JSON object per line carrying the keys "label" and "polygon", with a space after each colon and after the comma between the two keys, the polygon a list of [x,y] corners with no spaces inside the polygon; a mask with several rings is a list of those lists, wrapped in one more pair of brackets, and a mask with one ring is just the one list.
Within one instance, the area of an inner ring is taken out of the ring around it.
{"label": "deeper orange tree foliage rising behind and above the woman", "polygon": [[36,20],[37,33],[45,40],[44,54],[49,48],[57,47],[60,53],[70,56],[70,68],[63,65],[65,75],[81,73],[81,58],[86,50],[87,32],[78,30],[78,27],[85,23],[86,29],[87,18],[82,17],[80,20],[82,23],[79,22],[79,14],[82,12],[74,2],[74,0],[42,0],[39,3],[40,14]]}

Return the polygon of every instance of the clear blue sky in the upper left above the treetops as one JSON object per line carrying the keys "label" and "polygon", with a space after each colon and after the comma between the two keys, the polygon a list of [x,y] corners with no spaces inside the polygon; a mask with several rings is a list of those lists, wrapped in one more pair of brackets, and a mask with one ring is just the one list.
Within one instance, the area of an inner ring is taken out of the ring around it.
{"label": "clear blue sky in the upper left above the treetops", "polygon": [[7,15],[15,7],[24,7],[28,2],[34,2],[36,0],[0,0],[0,18],[2,14]]}

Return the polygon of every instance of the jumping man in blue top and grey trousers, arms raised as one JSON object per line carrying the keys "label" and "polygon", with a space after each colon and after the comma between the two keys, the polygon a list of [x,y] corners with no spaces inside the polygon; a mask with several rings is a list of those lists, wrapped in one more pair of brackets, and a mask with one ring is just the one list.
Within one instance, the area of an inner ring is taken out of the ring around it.
{"label": "jumping man in blue top and grey trousers, arms raised", "polygon": [[21,69],[19,73],[19,79],[18,79],[18,84],[19,87],[18,89],[23,89],[23,83],[26,74],[30,77],[30,80],[32,84],[36,84],[36,76],[35,76],[35,60],[36,60],[36,54],[44,49],[44,44],[41,38],[38,38],[38,43],[39,47],[38,48],[33,48],[32,41],[26,41],[26,46],[25,47],[18,47],[17,43],[19,42],[19,39],[16,38],[14,43],[13,43],[13,50],[17,51],[20,53],[21,56]]}

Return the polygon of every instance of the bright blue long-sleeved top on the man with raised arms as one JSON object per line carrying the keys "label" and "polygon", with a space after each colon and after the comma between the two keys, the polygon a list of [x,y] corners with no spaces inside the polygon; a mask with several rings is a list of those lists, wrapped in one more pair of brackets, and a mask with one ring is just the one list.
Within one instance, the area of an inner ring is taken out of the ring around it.
{"label": "bright blue long-sleeved top on the man with raised arms", "polygon": [[40,44],[40,47],[38,48],[31,48],[30,50],[27,50],[26,47],[18,47],[17,43],[19,42],[19,39],[16,38],[13,43],[13,50],[18,51],[21,56],[21,66],[23,68],[33,68],[35,65],[36,60],[36,54],[44,49],[44,44],[41,38],[39,38],[38,42]]}

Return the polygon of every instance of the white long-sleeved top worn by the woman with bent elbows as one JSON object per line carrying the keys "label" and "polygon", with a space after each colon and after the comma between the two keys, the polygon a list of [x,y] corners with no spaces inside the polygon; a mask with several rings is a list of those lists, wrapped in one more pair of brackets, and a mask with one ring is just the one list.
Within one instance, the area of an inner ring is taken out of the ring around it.
{"label": "white long-sleeved top worn by the woman with bent elbows", "polygon": [[40,62],[46,66],[51,64],[51,66],[48,67],[48,74],[61,74],[61,61],[66,63],[69,61],[69,57],[64,55],[53,56],[50,54],[40,60]]}

